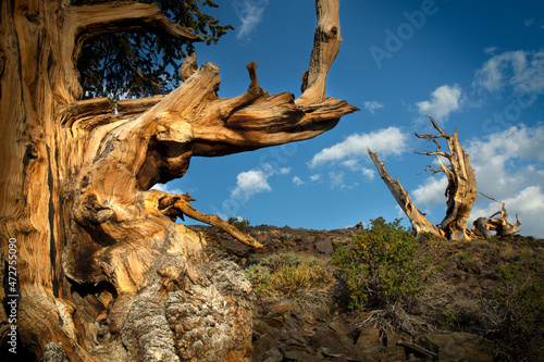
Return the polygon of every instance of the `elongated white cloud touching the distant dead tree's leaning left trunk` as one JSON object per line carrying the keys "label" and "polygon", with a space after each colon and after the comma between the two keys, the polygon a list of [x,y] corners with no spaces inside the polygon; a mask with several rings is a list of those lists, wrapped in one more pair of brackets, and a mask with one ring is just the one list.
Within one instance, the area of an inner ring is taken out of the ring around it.
{"label": "elongated white cloud touching the distant dead tree's leaning left trunk", "polygon": [[406,136],[397,127],[388,127],[370,134],[354,134],[344,141],[325,148],[313,155],[309,162],[310,168],[323,164],[342,163],[354,166],[357,159],[368,159],[367,147],[372,152],[379,152],[382,158],[391,154],[400,154],[407,149]]}

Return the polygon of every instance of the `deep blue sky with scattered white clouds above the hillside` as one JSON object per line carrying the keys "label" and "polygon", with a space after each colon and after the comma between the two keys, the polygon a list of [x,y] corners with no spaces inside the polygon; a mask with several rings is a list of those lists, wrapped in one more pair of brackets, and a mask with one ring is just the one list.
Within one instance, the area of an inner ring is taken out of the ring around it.
{"label": "deep blue sky with scattered white clouds above the hillside", "polygon": [[[197,45],[197,59],[219,65],[220,97],[246,90],[251,61],[263,89],[298,97],[314,1],[217,2],[210,13],[235,30],[217,46]],[[201,212],[244,216],[251,225],[333,229],[405,217],[366,152],[370,147],[440,223],[444,175],[422,173],[435,161],[412,152],[433,149],[413,136],[433,133],[429,114],[446,133],[459,133],[479,190],[506,202],[511,223],[518,214],[520,234],[544,237],[544,2],[341,0],[339,15],[344,40],[327,96],[360,112],[311,140],[194,158],[182,179],[161,187],[189,192]],[[472,216],[499,210],[479,196]]]}

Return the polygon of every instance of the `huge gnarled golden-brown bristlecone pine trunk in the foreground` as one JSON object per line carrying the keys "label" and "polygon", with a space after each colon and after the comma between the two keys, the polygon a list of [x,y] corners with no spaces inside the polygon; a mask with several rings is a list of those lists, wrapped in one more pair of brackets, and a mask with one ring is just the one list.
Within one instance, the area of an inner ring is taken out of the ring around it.
{"label": "huge gnarled golden-brown bristlecone pine trunk in the foreground", "polygon": [[[16,239],[18,352],[70,361],[242,360],[251,344],[250,286],[176,216],[215,224],[188,195],[150,190],[182,177],[191,157],[219,157],[316,137],[356,108],[325,95],[341,42],[337,0],[318,0],[304,92],[249,87],[219,98],[219,68],[183,67],[166,96],[82,99],[85,41],[123,28],[199,41],[152,4],[0,4],[0,234]],[[193,61],[191,61],[193,62]],[[196,62],[196,60],[194,60]],[[5,280],[8,265],[2,263]],[[2,289],[2,300],[11,290]],[[2,314],[5,342],[11,324]],[[4,346],[5,347],[5,346]]]}

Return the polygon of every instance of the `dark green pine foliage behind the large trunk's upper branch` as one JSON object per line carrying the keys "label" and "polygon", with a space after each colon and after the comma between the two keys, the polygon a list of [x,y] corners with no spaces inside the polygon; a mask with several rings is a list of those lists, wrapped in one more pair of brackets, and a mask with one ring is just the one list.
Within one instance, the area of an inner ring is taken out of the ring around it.
{"label": "dark green pine foliage behind the large trunk's upper branch", "polygon": [[[72,5],[99,4],[111,0],[72,0]],[[218,8],[211,0],[139,0],[156,4],[170,21],[191,27],[207,45],[233,29],[200,11]],[[136,98],[163,95],[180,85],[180,65],[194,51],[191,42],[153,32],[127,30],[88,39],[77,68],[84,98]]]}

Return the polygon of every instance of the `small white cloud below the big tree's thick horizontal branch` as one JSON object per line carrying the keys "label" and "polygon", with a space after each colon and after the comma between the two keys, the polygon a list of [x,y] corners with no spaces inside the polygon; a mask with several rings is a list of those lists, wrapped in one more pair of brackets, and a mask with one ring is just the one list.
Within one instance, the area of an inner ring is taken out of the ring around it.
{"label": "small white cloud below the big tree's thick horizontal branch", "polygon": [[247,201],[257,194],[272,191],[268,179],[273,175],[285,175],[290,168],[274,170],[270,164],[239,173],[236,176],[236,187],[231,192],[232,200]]}

